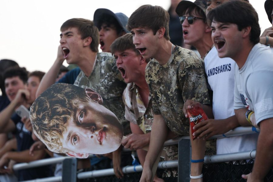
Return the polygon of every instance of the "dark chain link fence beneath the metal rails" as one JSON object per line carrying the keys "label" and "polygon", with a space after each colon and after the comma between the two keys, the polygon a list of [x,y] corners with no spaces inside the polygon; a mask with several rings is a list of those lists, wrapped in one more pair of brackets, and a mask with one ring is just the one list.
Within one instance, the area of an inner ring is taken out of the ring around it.
{"label": "dark chain link fence beneath the metal rails", "polygon": [[[204,164],[203,175],[205,182],[245,182],[241,175],[251,172],[253,160],[242,160],[229,163]],[[178,182],[177,168],[157,170],[157,175],[165,182]],[[141,172],[124,174],[122,179],[116,176],[105,176],[78,180],[79,182],[139,182]],[[265,177],[265,182],[273,182],[273,167]]]}

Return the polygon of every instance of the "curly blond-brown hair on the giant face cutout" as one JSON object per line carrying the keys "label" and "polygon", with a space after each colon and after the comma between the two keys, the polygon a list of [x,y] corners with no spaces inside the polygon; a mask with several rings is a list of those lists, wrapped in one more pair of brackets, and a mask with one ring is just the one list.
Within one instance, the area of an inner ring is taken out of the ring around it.
{"label": "curly blond-brown hair on the giant face cutout", "polygon": [[[58,92],[56,92],[58,91]],[[78,105],[74,100],[89,102],[83,88],[66,83],[56,83],[43,92],[30,108],[30,119],[35,135],[55,153],[67,153],[60,139],[66,125],[76,115]]]}

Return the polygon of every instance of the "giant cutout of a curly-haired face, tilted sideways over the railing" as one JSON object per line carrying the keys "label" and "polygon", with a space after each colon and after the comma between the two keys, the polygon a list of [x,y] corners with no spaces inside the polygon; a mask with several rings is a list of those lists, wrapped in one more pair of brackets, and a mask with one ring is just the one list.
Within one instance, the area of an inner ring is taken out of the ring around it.
{"label": "giant cutout of a curly-haired face, tilted sideways over the railing", "polygon": [[34,134],[55,153],[86,158],[120,147],[123,129],[101,96],[92,89],[56,83],[32,104]]}

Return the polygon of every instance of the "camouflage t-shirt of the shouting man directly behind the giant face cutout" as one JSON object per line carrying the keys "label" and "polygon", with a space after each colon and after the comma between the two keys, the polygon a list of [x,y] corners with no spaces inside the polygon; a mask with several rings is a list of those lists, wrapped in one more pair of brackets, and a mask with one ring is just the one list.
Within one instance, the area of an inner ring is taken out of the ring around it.
{"label": "camouflage t-shirt of the shouting man directly behind the giant face cutout", "polygon": [[[116,60],[111,53],[97,53],[91,75],[87,77],[81,71],[74,85],[95,90],[103,98],[103,106],[112,111],[121,124],[126,123],[122,101],[122,93],[126,83],[124,83],[120,71],[117,69]],[[127,123],[129,122],[127,121]]]}

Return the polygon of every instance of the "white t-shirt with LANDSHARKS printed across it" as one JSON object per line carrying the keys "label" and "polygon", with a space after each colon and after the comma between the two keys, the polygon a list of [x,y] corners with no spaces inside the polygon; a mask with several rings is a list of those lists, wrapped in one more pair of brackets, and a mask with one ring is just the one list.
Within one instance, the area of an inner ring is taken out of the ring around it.
{"label": "white t-shirt with LANDSHARKS printed across it", "polygon": [[[210,89],[213,91],[212,110],[214,119],[234,116],[234,67],[230,58],[219,58],[215,47],[204,59]],[[224,127],[224,126],[223,126]],[[217,139],[217,154],[254,150],[258,133]]]}

